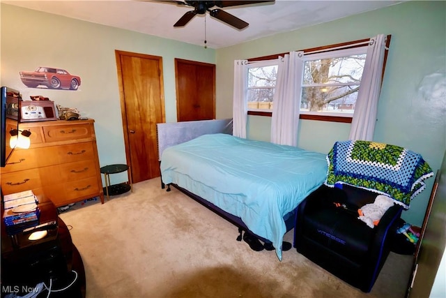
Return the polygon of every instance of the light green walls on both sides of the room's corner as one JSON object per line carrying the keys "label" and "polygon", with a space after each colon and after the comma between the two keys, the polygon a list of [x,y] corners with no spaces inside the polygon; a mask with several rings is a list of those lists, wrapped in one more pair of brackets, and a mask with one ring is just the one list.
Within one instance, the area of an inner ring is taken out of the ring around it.
{"label": "light green walls on both sides of the room's corner", "polygon": [[[125,163],[114,50],[162,57],[166,120],[171,122],[176,121],[174,58],[217,65],[216,114],[222,119],[232,116],[233,60],[392,34],[374,140],[420,152],[436,170],[446,149],[445,3],[408,1],[218,50],[2,3],[0,82],[22,91],[25,99],[43,95],[79,108],[95,119],[100,165]],[[82,86],[78,91],[28,89],[18,72],[36,66],[66,68],[82,77]],[[431,84],[436,76],[443,89]],[[345,140],[349,129],[349,124],[300,121],[298,144],[325,153],[334,141]],[[248,137],[269,140],[270,118],[249,117]],[[403,213],[406,221],[421,225],[432,183]]]}

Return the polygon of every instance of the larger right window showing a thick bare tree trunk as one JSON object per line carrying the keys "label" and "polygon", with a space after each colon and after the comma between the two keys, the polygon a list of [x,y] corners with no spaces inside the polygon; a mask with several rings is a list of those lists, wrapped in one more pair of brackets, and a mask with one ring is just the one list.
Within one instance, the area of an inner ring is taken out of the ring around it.
{"label": "larger right window showing a thick bare tree trunk", "polygon": [[353,117],[367,47],[304,56],[301,114]]}

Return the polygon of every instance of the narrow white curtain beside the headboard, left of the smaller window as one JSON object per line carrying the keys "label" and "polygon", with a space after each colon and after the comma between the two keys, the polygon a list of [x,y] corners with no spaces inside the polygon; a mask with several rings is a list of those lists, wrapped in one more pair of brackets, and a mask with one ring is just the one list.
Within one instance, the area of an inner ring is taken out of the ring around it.
{"label": "narrow white curtain beside the headboard, left of the smaller window", "polygon": [[236,137],[246,138],[247,121],[247,60],[234,61],[233,130]]}

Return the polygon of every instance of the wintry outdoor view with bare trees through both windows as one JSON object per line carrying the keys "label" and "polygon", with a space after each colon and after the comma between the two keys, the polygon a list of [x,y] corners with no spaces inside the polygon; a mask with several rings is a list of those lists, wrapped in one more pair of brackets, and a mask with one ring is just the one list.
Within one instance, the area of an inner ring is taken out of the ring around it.
{"label": "wintry outdoor view with bare trees through both windows", "polygon": [[[367,54],[356,48],[312,54],[304,58],[301,114],[352,116]],[[248,110],[272,111],[277,62],[249,67]]]}

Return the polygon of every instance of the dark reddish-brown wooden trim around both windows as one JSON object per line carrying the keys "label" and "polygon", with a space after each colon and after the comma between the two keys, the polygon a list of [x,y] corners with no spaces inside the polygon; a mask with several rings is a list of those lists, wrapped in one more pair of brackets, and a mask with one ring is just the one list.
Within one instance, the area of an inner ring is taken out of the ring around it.
{"label": "dark reddish-brown wooden trim around both windows", "polygon": [[[387,35],[387,40],[385,43],[385,46],[388,48],[390,45],[390,39],[392,38],[392,35]],[[357,45],[358,43],[365,43],[367,41],[369,41],[370,38],[364,38],[364,39],[360,39],[360,40],[352,40],[352,41],[348,41],[346,43],[336,43],[336,44],[332,44],[332,45],[324,45],[321,47],[312,47],[309,49],[305,49],[305,50],[298,50],[299,52],[315,52],[318,51],[321,53],[326,53],[326,52],[334,52],[339,50],[339,47],[344,47],[344,49],[351,49],[351,48],[355,48],[355,47],[363,47],[364,45]],[[385,64],[387,62],[387,54],[388,54],[388,50],[385,51],[384,54],[384,61],[383,61],[383,73],[381,74],[381,79],[383,79],[384,77],[384,72],[385,72]],[[255,57],[255,58],[250,58],[247,59],[247,61],[249,62],[253,62],[253,61],[264,61],[264,60],[274,60],[274,59],[278,59],[280,56],[284,56],[285,54],[289,54],[287,52],[285,53],[279,53],[279,54],[272,54],[272,55],[268,55],[268,56],[263,56],[263,57]],[[382,84],[382,82],[381,82]],[[248,115],[253,115],[253,116],[263,116],[263,117],[272,117],[272,112],[264,112],[264,111],[247,111]],[[351,123],[352,118],[353,117],[347,117],[347,116],[330,116],[330,115],[321,115],[321,114],[300,114],[299,115],[300,119],[305,119],[305,120],[318,120],[318,121],[330,121],[330,122],[340,122],[340,123]]]}

